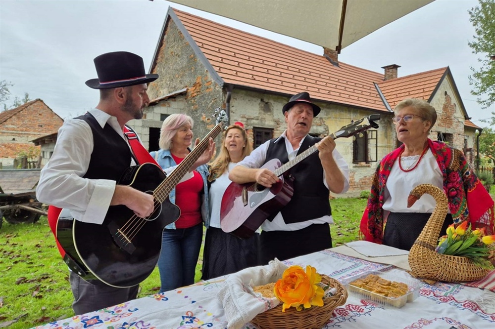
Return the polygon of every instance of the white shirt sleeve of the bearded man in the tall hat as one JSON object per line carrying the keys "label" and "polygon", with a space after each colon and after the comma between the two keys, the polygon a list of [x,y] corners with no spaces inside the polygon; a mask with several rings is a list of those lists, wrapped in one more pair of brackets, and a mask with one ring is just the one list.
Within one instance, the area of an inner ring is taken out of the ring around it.
{"label": "white shirt sleeve of the bearded man in the tall hat", "polygon": [[83,178],[93,152],[93,132],[84,120],[69,119],[58,130],[57,142],[43,167],[36,196],[40,202],[68,208],[75,219],[101,224],[116,182]]}

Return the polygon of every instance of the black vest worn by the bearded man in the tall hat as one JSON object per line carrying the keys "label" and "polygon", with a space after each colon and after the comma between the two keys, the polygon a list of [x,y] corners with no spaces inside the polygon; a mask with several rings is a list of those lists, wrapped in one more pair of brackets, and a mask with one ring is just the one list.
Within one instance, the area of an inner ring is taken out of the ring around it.
{"label": "black vest worn by the bearded man in the tall hat", "polygon": [[83,177],[118,182],[124,170],[131,165],[132,153],[129,145],[108,123],[101,128],[95,117],[89,113],[76,119],[88,123],[93,132],[93,153],[88,171]]}

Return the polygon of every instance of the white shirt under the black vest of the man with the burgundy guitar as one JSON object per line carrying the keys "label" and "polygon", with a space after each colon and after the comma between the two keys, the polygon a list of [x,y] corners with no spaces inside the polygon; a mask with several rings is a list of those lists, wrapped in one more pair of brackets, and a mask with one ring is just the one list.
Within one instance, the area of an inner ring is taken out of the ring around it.
{"label": "white shirt under the black vest of the man with the burgundy guitar", "polygon": [[[292,147],[291,142],[287,139],[287,130],[280,135],[279,138],[275,141],[275,143],[279,143],[282,140],[285,141],[285,147],[287,150],[287,155],[289,156],[289,161],[294,160],[297,156],[297,151],[299,150],[302,142],[304,141],[304,136],[303,139],[301,139],[299,143],[299,147],[295,150]],[[266,152],[268,151],[268,146],[270,144],[270,141],[266,141],[265,143],[261,144],[258,146],[256,149],[254,149],[250,155],[248,155],[246,158],[244,158],[243,161],[238,163],[238,165],[243,165],[248,168],[259,168],[263,164],[265,164],[265,159],[266,159]],[[344,175],[344,189],[342,190],[342,193],[346,193],[347,190],[349,189],[349,166],[342,157],[342,155],[334,149],[332,152],[332,156],[334,157],[335,162],[337,163],[339,169],[342,171]],[[319,160],[319,159],[318,159]],[[327,181],[325,180],[325,171],[323,171],[323,184],[325,184],[325,187],[328,189],[328,184]],[[303,229],[305,227],[308,227],[309,225],[312,224],[324,224],[324,223],[329,223],[332,224],[333,218],[331,215],[325,215],[320,218],[315,218],[315,219],[310,219],[306,220],[304,222],[299,222],[299,223],[290,223],[286,224],[284,221],[284,218],[282,217],[282,213],[278,213],[275,218],[273,218],[272,221],[265,220],[263,224],[261,225],[261,229],[263,231],[297,231],[300,229]]]}

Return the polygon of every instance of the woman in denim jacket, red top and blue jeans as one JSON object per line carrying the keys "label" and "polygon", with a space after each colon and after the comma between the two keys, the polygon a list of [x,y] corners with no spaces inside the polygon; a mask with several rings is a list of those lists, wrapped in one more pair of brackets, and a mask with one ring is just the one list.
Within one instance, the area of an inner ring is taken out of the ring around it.
{"label": "woman in denim jacket, red top and blue jeans", "polygon": [[[191,152],[193,119],[184,114],[172,114],[162,124],[160,150],[150,152],[162,167],[167,169],[180,164]],[[177,221],[165,227],[158,259],[160,292],[194,284],[196,263],[203,235],[202,223],[208,227],[208,167],[214,143],[198,159],[189,179],[182,180],[170,192],[170,202],[181,209]]]}

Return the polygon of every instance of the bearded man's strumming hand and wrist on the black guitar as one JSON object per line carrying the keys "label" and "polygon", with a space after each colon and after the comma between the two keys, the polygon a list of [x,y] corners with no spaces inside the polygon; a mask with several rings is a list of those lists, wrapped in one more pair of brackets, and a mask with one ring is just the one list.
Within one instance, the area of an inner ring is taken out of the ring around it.
{"label": "bearded man's strumming hand and wrist on the black guitar", "polygon": [[126,185],[116,185],[110,206],[124,205],[133,210],[141,218],[153,213],[154,198],[152,195]]}

